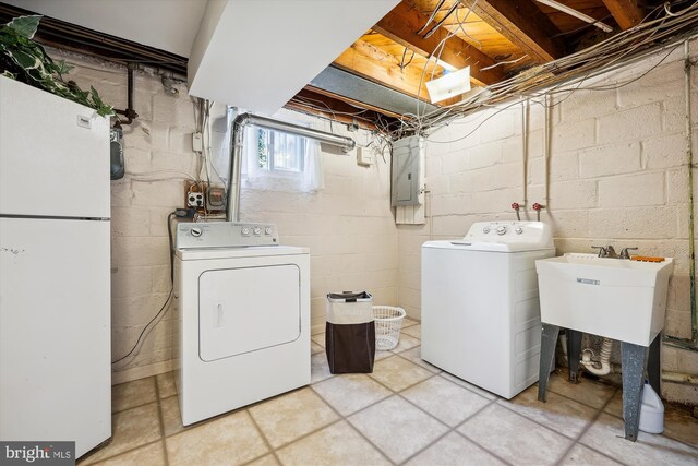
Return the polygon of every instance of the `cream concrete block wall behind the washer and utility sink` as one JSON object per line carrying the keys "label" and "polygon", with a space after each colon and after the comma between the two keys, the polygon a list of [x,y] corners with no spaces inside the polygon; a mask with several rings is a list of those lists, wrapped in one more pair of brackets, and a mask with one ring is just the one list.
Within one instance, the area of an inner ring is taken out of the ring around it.
{"label": "cream concrete block wall behind the washer and utility sink", "polygon": [[[698,47],[693,49],[695,53]],[[546,205],[542,220],[553,227],[558,254],[613,244],[617,250],[638,247],[643,255],[674,258],[665,332],[689,338],[683,50],[667,52],[581,86],[593,91],[552,96],[547,187],[543,99],[530,99],[527,208],[534,202]],[[652,67],[657,68],[648,72]],[[617,87],[621,83],[627,84]],[[698,148],[697,83],[694,76],[694,151]],[[424,226],[398,226],[398,296],[411,316],[420,318],[423,241],[462,237],[479,220],[516,218],[510,204],[525,201],[522,118],[520,100],[512,100],[429,136],[430,218]],[[664,345],[663,360],[665,370],[695,373],[698,354]],[[693,386],[666,383],[664,395],[698,404]]]}

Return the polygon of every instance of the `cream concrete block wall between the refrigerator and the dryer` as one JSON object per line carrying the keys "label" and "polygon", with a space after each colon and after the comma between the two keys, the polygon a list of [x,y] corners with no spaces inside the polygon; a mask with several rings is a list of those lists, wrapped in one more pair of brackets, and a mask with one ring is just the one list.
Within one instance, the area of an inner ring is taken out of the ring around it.
{"label": "cream concrete block wall between the refrigerator and the dryer", "polygon": [[[82,88],[94,86],[115,108],[127,107],[127,70],[108,62],[49,50],[75,65],[70,79]],[[169,95],[160,79],[134,75],[139,118],[123,127],[127,176],[111,181],[111,355],[124,356],[167,301],[170,292],[167,216],[184,199],[182,174],[195,175],[192,151],[193,103],[186,87]],[[171,369],[171,310],[145,338],[135,357],[112,366],[112,383]]]}

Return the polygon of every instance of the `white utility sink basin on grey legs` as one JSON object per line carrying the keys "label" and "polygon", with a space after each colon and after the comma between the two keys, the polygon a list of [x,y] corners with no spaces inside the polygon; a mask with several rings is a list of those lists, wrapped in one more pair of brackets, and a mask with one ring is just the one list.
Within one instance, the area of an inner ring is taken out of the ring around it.
{"label": "white utility sink basin on grey legs", "polygon": [[649,346],[664,328],[672,259],[567,253],[535,261],[543,323]]}

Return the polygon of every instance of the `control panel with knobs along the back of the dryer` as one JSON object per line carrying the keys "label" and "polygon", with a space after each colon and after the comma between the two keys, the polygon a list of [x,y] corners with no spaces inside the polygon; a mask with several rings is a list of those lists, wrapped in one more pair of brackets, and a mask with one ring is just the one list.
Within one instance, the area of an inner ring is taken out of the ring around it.
{"label": "control panel with knobs along the back of the dryer", "polygon": [[177,225],[177,249],[278,246],[274,224],[237,222],[181,223]]}

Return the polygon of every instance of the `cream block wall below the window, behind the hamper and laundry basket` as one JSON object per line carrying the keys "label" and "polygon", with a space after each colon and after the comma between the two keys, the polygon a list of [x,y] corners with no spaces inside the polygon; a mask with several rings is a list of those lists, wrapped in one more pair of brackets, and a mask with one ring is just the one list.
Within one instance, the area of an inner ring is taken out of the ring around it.
{"label": "cream block wall below the window, behind the hamper and laundry basket", "polygon": [[[364,131],[280,110],[278,118],[311,123],[313,128],[352,138],[359,145],[371,142]],[[356,151],[348,154],[323,147],[325,188],[298,192],[274,180],[242,183],[243,222],[273,222],[282,244],[311,250],[311,324],[325,325],[328,292],[369,290],[374,303],[397,304],[397,229],[390,210],[389,158],[376,157],[371,167],[357,165]],[[269,181],[272,181],[269,183]]]}

